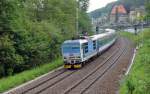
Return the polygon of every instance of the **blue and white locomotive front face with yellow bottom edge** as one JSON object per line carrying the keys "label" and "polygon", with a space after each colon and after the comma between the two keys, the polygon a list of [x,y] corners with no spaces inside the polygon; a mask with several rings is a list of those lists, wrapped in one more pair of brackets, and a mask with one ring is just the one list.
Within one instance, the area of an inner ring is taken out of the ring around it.
{"label": "blue and white locomotive front face with yellow bottom edge", "polygon": [[65,41],[62,44],[64,68],[81,68],[81,46],[78,40]]}

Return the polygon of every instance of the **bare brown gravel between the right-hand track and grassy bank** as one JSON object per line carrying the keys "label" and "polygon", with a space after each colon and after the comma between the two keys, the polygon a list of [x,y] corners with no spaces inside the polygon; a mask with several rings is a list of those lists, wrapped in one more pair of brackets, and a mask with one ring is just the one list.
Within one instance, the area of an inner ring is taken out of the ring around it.
{"label": "bare brown gravel between the right-hand track and grassy bank", "polygon": [[131,53],[134,51],[134,49],[131,48],[131,46],[133,47],[131,42],[127,41],[126,45],[127,50],[122,54],[118,63],[112,66],[102,78],[95,81],[94,84],[90,85],[83,93],[82,90],[80,90],[81,93],[78,94],[119,94],[120,80],[130,64],[133,55]]}

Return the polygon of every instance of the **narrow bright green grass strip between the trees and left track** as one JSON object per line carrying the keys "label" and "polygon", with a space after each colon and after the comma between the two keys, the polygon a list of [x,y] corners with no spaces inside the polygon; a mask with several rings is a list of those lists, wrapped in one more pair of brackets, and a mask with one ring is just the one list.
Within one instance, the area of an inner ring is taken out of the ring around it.
{"label": "narrow bright green grass strip between the trees and left track", "polygon": [[62,60],[58,59],[52,63],[42,65],[42,66],[34,68],[32,70],[24,71],[20,74],[16,74],[14,76],[10,76],[7,78],[2,78],[2,79],[0,79],[0,93],[4,92],[10,88],[21,85],[32,79],[35,79],[36,77],[41,76],[45,73],[48,73],[49,71],[52,71],[53,69],[56,69],[62,65],[63,65]]}

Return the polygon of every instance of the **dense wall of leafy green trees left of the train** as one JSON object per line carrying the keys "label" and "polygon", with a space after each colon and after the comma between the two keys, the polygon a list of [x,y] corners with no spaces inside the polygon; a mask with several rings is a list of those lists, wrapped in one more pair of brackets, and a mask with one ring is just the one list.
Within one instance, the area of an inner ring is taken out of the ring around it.
{"label": "dense wall of leafy green trees left of the train", "polygon": [[[88,6],[88,0],[80,2]],[[76,0],[1,0],[0,78],[59,57],[61,43],[77,33],[77,4]],[[79,33],[90,32],[87,7],[82,8]]]}

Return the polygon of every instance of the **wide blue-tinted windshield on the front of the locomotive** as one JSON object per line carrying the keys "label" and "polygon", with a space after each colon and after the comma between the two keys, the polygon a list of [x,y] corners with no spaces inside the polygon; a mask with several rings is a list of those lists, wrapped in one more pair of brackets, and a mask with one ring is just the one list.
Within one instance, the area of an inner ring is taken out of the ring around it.
{"label": "wide blue-tinted windshield on the front of the locomotive", "polygon": [[63,53],[80,53],[80,45],[79,44],[64,44],[62,46]]}

